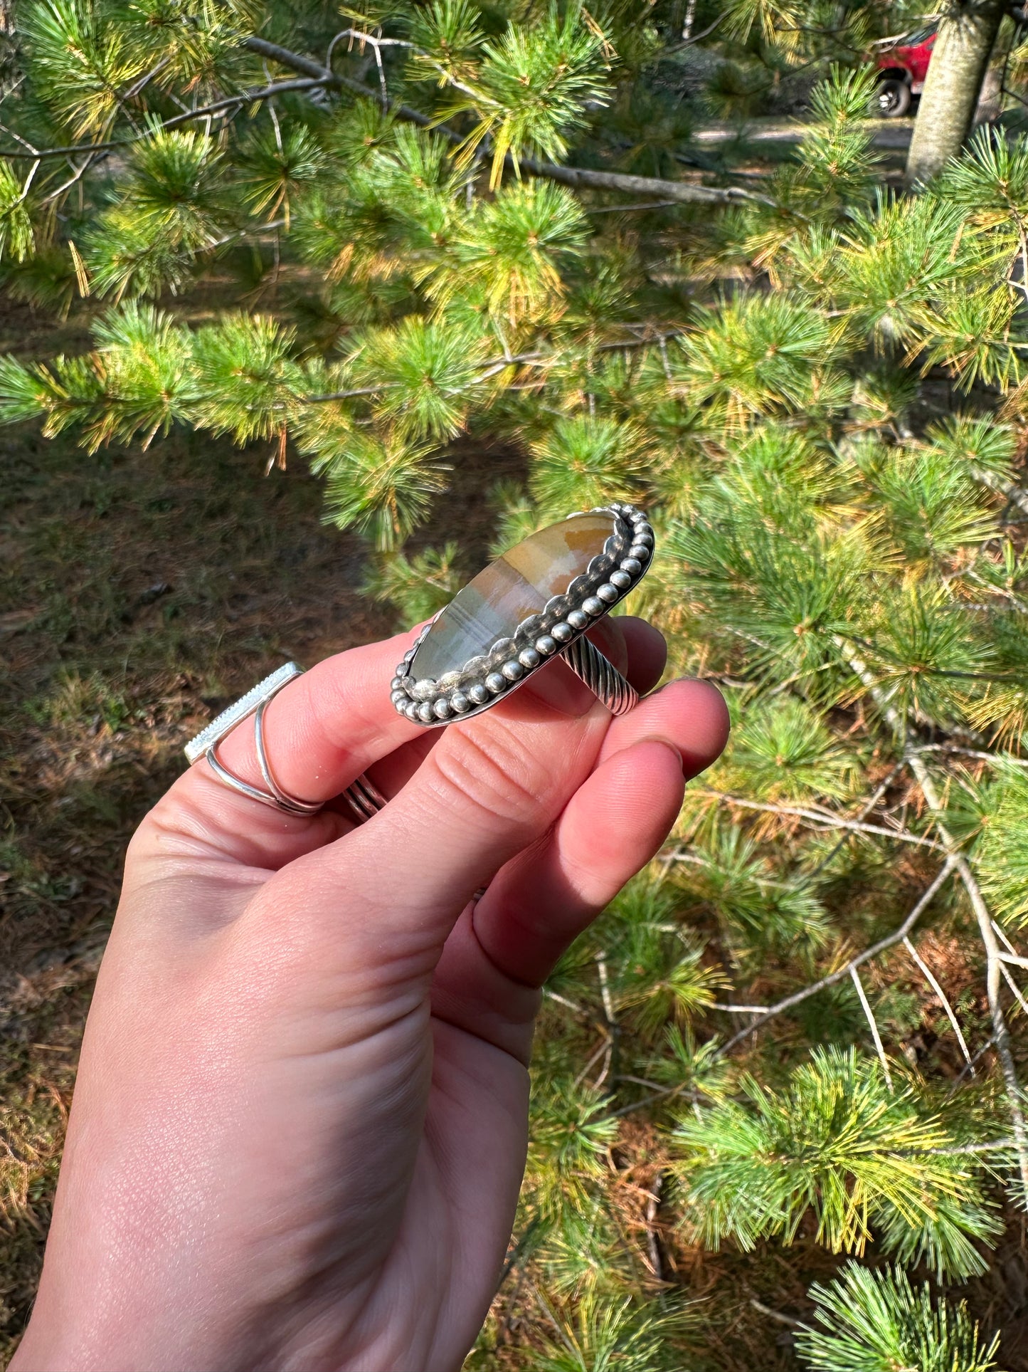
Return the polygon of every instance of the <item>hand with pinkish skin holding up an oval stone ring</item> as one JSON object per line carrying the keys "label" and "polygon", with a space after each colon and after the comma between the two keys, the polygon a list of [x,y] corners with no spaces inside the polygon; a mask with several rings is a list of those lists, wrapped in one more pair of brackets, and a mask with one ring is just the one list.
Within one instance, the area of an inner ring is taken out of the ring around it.
{"label": "hand with pinkish skin holding up an oval stone ring", "polygon": [[[639,690],[663,641],[606,620]],[[12,1372],[461,1367],[525,1159],[539,991],[724,746],[713,686],[611,719],[554,661],[444,731],[396,715],[402,635],[269,705],[296,816],[200,763],[144,819],[100,969]],[[260,785],[252,730],[219,753]],[[476,903],[473,893],[488,886]]]}

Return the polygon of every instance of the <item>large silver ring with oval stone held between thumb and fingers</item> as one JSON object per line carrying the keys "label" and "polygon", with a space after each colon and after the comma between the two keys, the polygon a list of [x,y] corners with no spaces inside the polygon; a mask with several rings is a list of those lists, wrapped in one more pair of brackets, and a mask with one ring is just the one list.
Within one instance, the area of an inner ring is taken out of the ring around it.
{"label": "large silver ring with oval stone held between thumb and fingers", "polygon": [[481,715],[562,657],[614,715],[639,696],[585,638],[646,575],[654,531],[632,505],[576,510],[478,572],[396,668],[393,707],[439,729]]}

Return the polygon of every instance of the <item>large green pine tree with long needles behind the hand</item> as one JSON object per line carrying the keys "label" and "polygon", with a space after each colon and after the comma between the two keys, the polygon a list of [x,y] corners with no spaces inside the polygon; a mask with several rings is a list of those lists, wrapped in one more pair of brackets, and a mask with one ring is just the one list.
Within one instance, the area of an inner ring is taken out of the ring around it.
{"label": "large green pine tree with long needles behind the hand", "polygon": [[[646,504],[632,608],[733,740],[547,986],[472,1365],[710,1365],[766,1306],[726,1279],[695,1317],[687,1255],[752,1253],[768,1297],[761,1254],[807,1236],[899,1264],[813,1288],[811,1367],[986,1369],[903,1269],[981,1273],[1028,1192],[1028,140],[887,184],[861,58],[899,7],[330,18],[23,0],[3,284],[93,343],[0,359],[0,417],[310,462],[397,623],[474,571],[426,530],[487,439],[524,457],[498,549]],[[787,161],[689,141],[810,71]]]}

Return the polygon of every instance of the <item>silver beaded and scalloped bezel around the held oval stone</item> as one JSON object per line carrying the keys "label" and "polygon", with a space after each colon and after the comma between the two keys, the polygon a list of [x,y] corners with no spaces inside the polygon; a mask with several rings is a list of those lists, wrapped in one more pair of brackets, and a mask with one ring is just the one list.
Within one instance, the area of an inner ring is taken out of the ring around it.
{"label": "silver beaded and scalloped bezel around the held oval stone", "polygon": [[403,654],[391,683],[392,702],[425,729],[441,729],[458,719],[472,719],[510,696],[546,667],[551,657],[581,638],[591,624],[628,595],[646,576],[654,556],[654,531],[633,505],[599,505],[577,514],[610,514],[611,532],[587,569],[576,576],[563,595],[554,595],[537,615],[524,619],[510,638],[498,639],[488,653],[469,659],[459,670],[439,681],[415,681],[411,663],[429,628],[445,606],[418,634]]}

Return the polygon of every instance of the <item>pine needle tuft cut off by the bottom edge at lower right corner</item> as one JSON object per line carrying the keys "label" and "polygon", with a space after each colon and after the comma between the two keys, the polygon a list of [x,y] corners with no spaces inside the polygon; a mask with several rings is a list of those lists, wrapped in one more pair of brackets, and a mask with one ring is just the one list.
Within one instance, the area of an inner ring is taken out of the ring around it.
{"label": "pine needle tuft cut off by the bottom edge at lower right corner", "polygon": [[966,1306],[935,1303],[925,1283],[911,1287],[901,1269],[870,1272],[857,1264],[810,1291],[820,1327],[805,1328],[800,1356],[816,1372],[990,1372],[999,1339],[986,1346]]}

